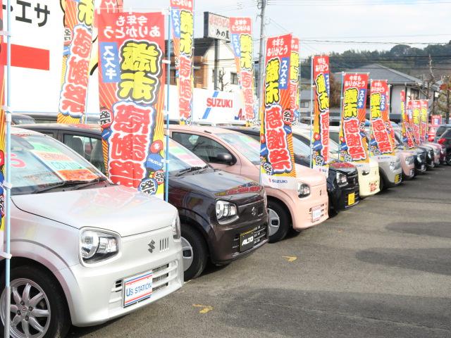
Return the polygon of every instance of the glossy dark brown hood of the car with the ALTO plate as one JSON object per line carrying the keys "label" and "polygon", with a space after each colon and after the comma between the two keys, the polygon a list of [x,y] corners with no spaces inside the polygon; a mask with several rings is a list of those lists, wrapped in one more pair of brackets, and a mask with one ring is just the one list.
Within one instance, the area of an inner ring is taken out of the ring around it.
{"label": "glossy dark brown hood of the car with the ALTO plate", "polygon": [[170,186],[184,189],[212,199],[245,200],[251,203],[261,199],[263,187],[245,177],[226,173],[222,170],[211,170],[206,173],[170,177]]}

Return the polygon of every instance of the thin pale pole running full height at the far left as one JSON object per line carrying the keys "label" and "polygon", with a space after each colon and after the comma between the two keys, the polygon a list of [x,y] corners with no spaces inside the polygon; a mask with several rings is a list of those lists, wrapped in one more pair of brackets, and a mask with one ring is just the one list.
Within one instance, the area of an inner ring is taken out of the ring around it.
{"label": "thin pale pole running full height at the far left", "polygon": [[5,228],[6,228],[6,268],[5,268],[5,324],[4,337],[9,337],[11,321],[11,0],[6,1],[6,177],[4,182],[5,189]]}

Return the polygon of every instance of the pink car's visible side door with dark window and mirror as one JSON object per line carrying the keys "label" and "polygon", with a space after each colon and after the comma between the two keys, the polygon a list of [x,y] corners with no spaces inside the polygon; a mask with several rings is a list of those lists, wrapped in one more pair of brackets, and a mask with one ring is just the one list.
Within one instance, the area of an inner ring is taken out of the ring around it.
{"label": "pink car's visible side door with dark window and mirror", "polygon": [[[171,132],[174,141],[182,144],[185,148],[190,149],[194,154],[209,163],[213,168],[227,171],[240,175],[241,163],[240,158],[230,149],[227,144],[223,144],[220,140],[215,140],[207,135],[196,134],[194,132]],[[221,142],[221,143],[220,143]],[[230,154],[233,161],[231,163],[223,163],[218,159],[218,154]]]}

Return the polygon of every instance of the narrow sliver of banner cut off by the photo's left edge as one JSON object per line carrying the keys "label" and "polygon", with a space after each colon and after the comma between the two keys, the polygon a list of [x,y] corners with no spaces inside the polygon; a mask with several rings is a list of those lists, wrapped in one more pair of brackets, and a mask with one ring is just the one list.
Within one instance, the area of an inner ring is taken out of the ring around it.
{"label": "narrow sliver of banner cut off by the photo's left edge", "polygon": [[[0,8],[3,1],[0,0]],[[0,22],[4,23],[3,20],[3,11],[0,11]],[[6,27],[4,24],[3,27]],[[4,42],[4,35],[0,35],[0,44]],[[6,48],[0,49],[0,56],[4,56],[6,54]],[[4,58],[6,60],[6,56]],[[4,106],[4,98],[5,98],[5,67],[0,64],[0,252],[4,251],[3,247],[3,239],[4,239],[4,231],[5,231],[5,195],[4,195],[4,180],[5,180],[5,150],[6,150],[6,120],[5,120],[5,111],[3,109]]]}

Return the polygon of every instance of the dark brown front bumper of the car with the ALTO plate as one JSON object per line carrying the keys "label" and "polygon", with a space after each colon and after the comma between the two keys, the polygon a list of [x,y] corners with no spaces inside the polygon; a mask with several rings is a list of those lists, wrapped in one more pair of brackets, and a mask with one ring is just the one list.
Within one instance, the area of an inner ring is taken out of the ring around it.
{"label": "dark brown front bumper of the car with the ALTO plate", "polygon": [[[268,214],[264,208],[264,202],[259,201],[253,204],[240,206],[240,214],[249,214],[244,209],[252,209],[256,206],[261,210],[254,218],[249,217],[240,220],[240,223],[232,225],[212,225],[212,232],[209,234],[209,248],[211,262],[214,264],[227,264],[238,258],[249,255],[268,242]],[[240,250],[241,234],[252,232],[254,235],[254,246],[246,251]]]}

